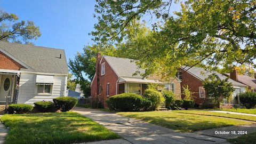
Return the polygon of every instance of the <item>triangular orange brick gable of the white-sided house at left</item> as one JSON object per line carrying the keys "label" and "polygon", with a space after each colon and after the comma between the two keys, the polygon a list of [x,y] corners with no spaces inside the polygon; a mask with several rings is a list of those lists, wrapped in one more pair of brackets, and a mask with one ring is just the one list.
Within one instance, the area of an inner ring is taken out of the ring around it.
{"label": "triangular orange brick gable of the white-sided house at left", "polygon": [[0,69],[20,70],[25,68],[0,51]]}

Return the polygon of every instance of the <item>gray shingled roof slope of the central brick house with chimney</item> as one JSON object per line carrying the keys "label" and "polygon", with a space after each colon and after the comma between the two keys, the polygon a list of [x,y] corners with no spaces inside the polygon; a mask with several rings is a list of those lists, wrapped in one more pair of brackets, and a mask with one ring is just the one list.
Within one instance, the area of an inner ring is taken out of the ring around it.
{"label": "gray shingled roof slope of the central brick house with chimney", "polygon": [[[107,60],[109,65],[114,69],[119,77],[142,78],[140,74],[145,73],[144,69],[138,68],[133,59],[110,57],[108,55],[103,55],[103,57]],[[136,71],[140,71],[140,74],[133,76]]]}

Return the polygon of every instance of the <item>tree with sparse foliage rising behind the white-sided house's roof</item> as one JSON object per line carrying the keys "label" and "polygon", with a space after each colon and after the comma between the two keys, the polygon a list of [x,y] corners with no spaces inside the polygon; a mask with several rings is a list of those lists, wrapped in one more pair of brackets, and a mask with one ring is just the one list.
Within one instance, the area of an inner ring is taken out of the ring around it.
{"label": "tree with sparse foliage rising behind the white-sided house's roof", "polygon": [[33,21],[18,21],[17,15],[0,11],[0,41],[27,43],[41,36]]}

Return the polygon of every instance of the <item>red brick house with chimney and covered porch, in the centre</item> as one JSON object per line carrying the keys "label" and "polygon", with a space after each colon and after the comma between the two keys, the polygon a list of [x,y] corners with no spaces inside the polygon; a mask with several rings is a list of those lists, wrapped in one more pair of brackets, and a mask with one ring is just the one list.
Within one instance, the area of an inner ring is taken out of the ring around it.
{"label": "red brick house with chimney and covered porch, in the centre", "polygon": [[97,54],[96,72],[91,83],[91,97],[106,107],[106,99],[121,93],[137,93],[143,95],[147,84],[157,83],[165,85],[165,89],[173,91],[180,97],[180,81],[173,78],[171,82],[161,82],[159,77],[143,78],[134,75],[136,71],[145,73],[144,69],[138,68],[133,59],[116,58],[108,55],[101,57]]}

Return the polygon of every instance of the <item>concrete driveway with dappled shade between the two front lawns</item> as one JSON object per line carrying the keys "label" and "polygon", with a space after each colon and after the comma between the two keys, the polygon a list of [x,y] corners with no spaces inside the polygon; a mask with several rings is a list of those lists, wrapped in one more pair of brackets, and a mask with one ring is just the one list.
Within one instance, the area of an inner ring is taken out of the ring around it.
{"label": "concrete driveway with dappled shade between the two front lawns", "polygon": [[137,119],[120,116],[107,111],[75,107],[73,111],[93,119],[93,121],[117,133],[123,139],[90,143],[228,143],[226,139],[199,133],[177,133],[166,127],[149,124]]}

